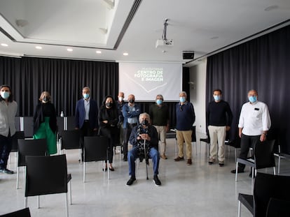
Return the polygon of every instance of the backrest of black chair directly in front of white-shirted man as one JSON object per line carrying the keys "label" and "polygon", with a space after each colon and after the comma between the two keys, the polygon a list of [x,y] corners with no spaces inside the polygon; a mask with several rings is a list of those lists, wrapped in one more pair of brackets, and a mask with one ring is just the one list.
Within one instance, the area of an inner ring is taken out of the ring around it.
{"label": "backrest of black chair directly in front of white-shirted man", "polygon": [[275,156],[273,153],[275,140],[258,142],[254,150],[256,169],[275,167]]}

